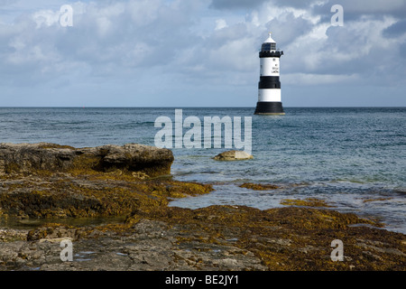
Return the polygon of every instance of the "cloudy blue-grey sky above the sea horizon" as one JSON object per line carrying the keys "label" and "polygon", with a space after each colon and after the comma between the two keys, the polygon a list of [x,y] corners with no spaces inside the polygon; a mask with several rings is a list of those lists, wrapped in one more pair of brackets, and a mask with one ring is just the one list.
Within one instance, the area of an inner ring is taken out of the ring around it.
{"label": "cloudy blue-grey sky above the sea horizon", "polygon": [[406,0],[0,0],[0,107],[255,107],[269,32],[283,107],[406,107]]}

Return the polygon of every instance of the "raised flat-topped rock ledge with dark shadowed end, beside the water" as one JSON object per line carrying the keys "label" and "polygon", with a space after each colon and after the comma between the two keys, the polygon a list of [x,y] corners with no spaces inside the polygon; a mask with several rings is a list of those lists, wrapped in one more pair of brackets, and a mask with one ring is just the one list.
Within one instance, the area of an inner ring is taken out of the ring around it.
{"label": "raised flat-topped rock ledge with dark shadowed end, beside the water", "polygon": [[173,160],[171,150],[143,144],[88,148],[49,143],[0,144],[0,175],[119,169],[154,177],[169,174]]}

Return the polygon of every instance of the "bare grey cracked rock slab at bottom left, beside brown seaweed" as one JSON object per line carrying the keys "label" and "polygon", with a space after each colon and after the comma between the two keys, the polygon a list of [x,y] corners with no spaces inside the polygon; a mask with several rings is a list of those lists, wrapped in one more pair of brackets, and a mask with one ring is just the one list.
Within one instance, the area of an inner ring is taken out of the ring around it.
{"label": "bare grey cracked rock slab at bottom left, beside brown seaweed", "polygon": [[[71,232],[97,231],[77,238]],[[44,232],[51,234],[43,237]],[[142,219],[119,234],[95,228],[45,226],[22,231],[28,241],[0,242],[0,271],[169,271],[169,270],[266,270],[261,259],[250,251],[232,245],[181,241],[184,228]],[[60,238],[56,236],[62,234]],[[73,244],[73,262],[60,260],[60,241],[65,237]]]}

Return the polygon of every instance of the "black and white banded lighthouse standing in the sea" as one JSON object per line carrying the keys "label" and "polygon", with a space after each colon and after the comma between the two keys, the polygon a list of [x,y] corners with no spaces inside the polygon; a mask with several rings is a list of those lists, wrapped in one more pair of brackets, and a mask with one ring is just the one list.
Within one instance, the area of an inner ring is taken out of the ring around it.
{"label": "black and white banded lighthouse standing in the sea", "polygon": [[260,81],[255,115],[284,115],[281,104],[281,81],[279,80],[279,59],[283,51],[276,50],[271,33],[259,52]]}

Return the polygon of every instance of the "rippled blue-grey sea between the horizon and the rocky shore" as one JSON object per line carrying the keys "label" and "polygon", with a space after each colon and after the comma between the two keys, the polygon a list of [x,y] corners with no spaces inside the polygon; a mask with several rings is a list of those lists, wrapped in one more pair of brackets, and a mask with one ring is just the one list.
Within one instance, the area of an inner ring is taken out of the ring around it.
{"label": "rippled blue-grey sea between the horizon and the rocky shore", "polygon": [[[233,125],[240,117],[243,140],[250,118],[254,159],[214,160],[230,150],[224,133],[221,147],[175,147],[173,129],[173,179],[209,183],[214,191],[171,200],[171,206],[266,210],[285,206],[283,200],[316,198],[331,206],[327,210],[378,219],[385,229],[406,233],[406,107],[284,107],[284,116],[256,116],[254,107],[0,107],[0,143],[156,145],[163,127],[157,118],[174,128],[176,109],[183,121],[193,117],[202,127],[204,117],[230,117]],[[279,189],[239,187],[244,182]]]}

